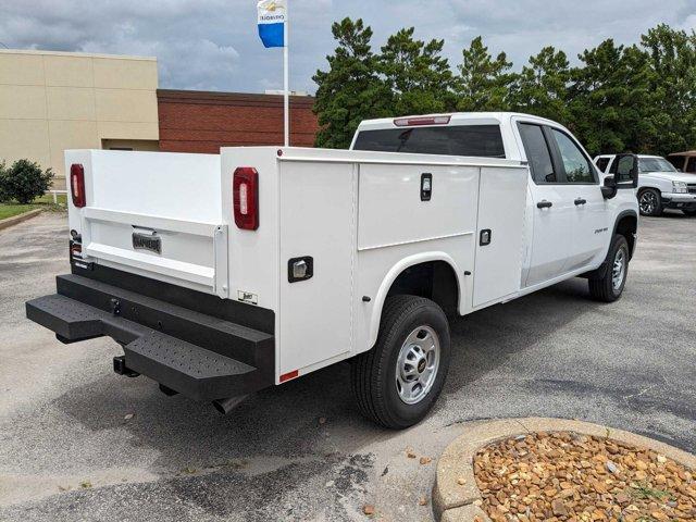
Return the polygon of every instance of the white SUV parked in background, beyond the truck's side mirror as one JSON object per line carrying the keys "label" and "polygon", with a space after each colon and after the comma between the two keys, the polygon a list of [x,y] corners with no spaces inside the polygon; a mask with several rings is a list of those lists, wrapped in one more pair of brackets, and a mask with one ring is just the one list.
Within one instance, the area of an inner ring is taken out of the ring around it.
{"label": "white SUV parked in background, beyond the truck's side mirror", "polygon": [[[595,158],[597,169],[606,176],[616,174],[616,154]],[[664,158],[638,156],[638,206],[643,215],[661,215],[664,209],[679,209],[696,215],[696,174],[679,172]]]}

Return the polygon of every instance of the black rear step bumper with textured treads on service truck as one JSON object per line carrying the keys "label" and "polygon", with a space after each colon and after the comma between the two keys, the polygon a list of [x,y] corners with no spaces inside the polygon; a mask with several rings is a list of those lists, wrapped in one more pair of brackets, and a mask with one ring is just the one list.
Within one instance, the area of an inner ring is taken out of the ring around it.
{"label": "black rear step bumper with textured treads on service truck", "polygon": [[63,343],[109,336],[126,374],[146,375],[196,400],[257,391],[274,383],[274,337],[231,321],[79,275],[26,303],[32,321]]}

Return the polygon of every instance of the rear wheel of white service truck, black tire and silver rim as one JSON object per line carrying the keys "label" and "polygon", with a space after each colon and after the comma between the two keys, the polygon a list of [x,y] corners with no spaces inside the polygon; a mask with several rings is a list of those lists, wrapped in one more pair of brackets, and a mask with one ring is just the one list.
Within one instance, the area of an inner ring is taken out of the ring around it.
{"label": "rear wheel of white service truck, black tire and silver rim", "polygon": [[449,359],[449,324],[442,308],[422,297],[387,298],[377,343],[351,365],[360,411],[393,430],[417,424],[437,400]]}

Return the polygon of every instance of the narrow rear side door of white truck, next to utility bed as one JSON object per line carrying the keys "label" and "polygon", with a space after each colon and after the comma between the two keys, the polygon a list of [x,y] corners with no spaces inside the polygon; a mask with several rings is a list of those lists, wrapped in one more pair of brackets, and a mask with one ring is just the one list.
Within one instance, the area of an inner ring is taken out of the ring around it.
{"label": "narrow rear side door of white truck, next to utility bed", "polygon": [[561,182],[560,166],[554,161],[548,128],[519,122],[518,130],[530,164],[530,198],[533,215],[530,270],[523,286],[533,286],[564,273],[572,244],[574,188]]}

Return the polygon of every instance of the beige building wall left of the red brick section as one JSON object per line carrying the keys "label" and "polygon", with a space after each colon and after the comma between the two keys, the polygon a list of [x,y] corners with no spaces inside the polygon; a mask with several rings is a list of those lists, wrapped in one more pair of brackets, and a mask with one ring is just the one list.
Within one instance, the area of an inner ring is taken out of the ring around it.
{"label": "beige building wall left of the red brick section", "polygon": [[157,87],[154,58],[0,49],[0,161],[50,166],[63,188],[65,149],[158,150]]}

